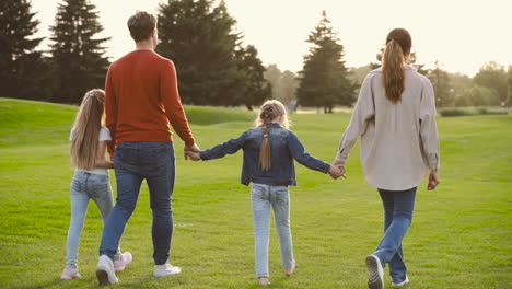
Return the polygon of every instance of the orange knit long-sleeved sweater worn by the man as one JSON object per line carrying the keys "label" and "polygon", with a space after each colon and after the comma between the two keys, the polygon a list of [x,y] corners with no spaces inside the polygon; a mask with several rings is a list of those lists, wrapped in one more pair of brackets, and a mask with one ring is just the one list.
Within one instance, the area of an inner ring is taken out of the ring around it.
{"label": "orange knit long-sleeved sweater worn by the man", "polygon": [[151,50],[127,54],[110,65],[105,94],[110,154],[125,141],[173,141],[170,124],[186,146],[195,143],[170,59]]}

